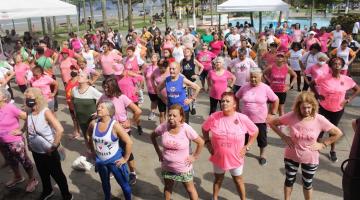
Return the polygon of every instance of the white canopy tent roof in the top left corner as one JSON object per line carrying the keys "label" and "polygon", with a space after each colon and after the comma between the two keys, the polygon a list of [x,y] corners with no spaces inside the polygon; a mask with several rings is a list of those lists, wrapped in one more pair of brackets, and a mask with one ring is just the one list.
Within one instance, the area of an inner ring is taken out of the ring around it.
{"label": "white canopy tent roof in the top left corner", "polygon": [[1,0],[0,20],[76,15],[76,6],[59,0]]}

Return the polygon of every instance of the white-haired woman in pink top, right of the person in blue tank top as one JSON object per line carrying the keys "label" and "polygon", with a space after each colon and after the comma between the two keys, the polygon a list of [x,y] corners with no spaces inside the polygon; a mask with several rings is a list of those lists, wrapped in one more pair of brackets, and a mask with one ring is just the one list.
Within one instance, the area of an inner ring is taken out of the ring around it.
{"label": "white-haired woman in pink top, right of the person in blue tank top", "polygon": [[209,97],[210,97],[210,115],[217,109],[220,104],[221,95],[224,92],[232,91],[235,83],[235,76],[224,68],[224,59],[217,57],[215,60],[215,69],[210,70],[208,76]]}

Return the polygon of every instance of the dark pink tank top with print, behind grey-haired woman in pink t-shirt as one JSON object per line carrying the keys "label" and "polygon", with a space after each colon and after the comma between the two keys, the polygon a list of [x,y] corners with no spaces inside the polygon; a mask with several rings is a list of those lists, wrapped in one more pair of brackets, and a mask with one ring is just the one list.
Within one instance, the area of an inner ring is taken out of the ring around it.
{"label": "dark pink tank top with print, behind grey-haired woman in pink t-shirt", "polygon": [[285,92],[286,75],[288,74],[288,65],[281,67],[273,65],[270,74],[270,87],[274,92]]}

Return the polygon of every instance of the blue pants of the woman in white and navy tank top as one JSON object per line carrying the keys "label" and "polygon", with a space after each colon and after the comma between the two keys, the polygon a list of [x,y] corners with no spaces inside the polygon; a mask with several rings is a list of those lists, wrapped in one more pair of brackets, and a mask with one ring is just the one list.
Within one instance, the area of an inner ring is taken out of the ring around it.
{"label": "blue pants of the woman in white and navy tank top", "polygon": [[129,184],[129,172],[127,165],[123,164],[120,168],[114,163],[96,164],[99,172],[105,200],[111,199],[110,172],[114,175],[116,182],[120,185],[126,200],[131,200],[131,187]]}

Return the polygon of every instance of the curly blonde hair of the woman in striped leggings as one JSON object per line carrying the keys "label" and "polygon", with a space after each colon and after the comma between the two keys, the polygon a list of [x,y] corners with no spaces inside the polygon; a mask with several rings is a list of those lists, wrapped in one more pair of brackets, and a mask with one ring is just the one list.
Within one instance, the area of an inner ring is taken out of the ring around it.
{"label": "curly blonde hair of the woman in striped leggings", "polygon": [[304,116],[301,114],[301,104],[308,103],[312,106],[311,116],[314,117],[315,114],[319,110],[319,104],[315,98],[315,95],[313,92],[304,91],[301,92],[295,99],[293,111],[296,113],[296,115],[300,118],[303,118]]}

